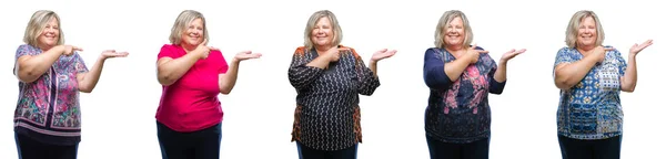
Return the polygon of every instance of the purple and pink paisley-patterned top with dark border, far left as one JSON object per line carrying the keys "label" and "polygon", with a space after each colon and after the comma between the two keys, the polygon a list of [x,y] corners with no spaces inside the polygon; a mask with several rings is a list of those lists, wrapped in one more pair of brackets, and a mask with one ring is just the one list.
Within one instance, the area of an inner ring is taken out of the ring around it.
{"label": "purple and pink paisley-patterned top with dark border, far left", "polygon": [[[39,47],[23,44],[17,50],[16,60],[23,55],[41,53]],[[85,63],[74,53],[60,56],[37,81],[19,82],[19,99],[14,112],[16,129],[19,129],[19,132],[22,131],[20,129],[27,129],[32,131],[30,134],[46,135],[47,137],[36,137],[44,142],[52,142],[58,137],[80,137],[81,109],[77,74],[87,72]]]}

